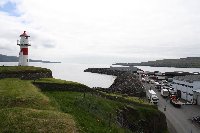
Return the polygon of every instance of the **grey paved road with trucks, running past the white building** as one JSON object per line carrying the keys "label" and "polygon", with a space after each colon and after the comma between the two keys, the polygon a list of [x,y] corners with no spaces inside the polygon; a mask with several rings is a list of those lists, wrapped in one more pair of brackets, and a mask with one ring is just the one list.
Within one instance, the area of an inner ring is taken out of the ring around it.
{"label": "grey paved road with trucks, running past the white building", "polygon": [[[181,108],[175,108],[169,100],[166,101],[160,92],[157,92],[154,85],[145,83],[144,86],[146,90],[150,87],[154,89],[159,97],[158,109],[166,115],[170,133],[200,133],[200,127],[191,121],[193,116],[200,115],[200,106],[182,105]],[[164,111],[165,106],[166,111]]]}

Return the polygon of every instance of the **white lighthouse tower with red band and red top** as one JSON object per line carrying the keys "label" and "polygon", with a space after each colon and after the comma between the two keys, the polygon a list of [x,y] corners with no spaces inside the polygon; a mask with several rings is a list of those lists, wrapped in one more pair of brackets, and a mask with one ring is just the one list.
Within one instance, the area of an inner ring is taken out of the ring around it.
{"label": "white lighthouse tower with red band and red top", "polygon": [[19,52],[19,66],[28,66],[28,46],[31,46],[29,44],[28,38],[30,36],[28,36],[26,34],[26,31],[24,31],[23,34],[20,35],[20,41],[17,40],[17,45],[20,46],[20,52]]}

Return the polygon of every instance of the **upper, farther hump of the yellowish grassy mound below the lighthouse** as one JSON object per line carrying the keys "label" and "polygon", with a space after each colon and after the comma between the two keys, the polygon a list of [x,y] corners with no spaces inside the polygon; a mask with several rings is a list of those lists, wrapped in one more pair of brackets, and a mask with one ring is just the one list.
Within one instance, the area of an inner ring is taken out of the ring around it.
{"label": "upper, farther hump of the yellowish grassy mound below the lighthouse", "polygon": [[0,80],[0,108],[24,107],[34,109],[56,109],[47,96],[30,81],[20,79]]}

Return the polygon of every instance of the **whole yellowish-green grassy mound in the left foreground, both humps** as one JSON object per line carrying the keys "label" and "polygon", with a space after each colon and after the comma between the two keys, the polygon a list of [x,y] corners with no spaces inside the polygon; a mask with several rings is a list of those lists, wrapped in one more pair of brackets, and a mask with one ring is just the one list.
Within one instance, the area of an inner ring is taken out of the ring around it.
{"label": "whole yellowish-green grassy mound in the left foreground, both humps", "polygon": [[76,131],[73,118],[52,106],[30,81],[0,80],[0,132],[63,131]]}

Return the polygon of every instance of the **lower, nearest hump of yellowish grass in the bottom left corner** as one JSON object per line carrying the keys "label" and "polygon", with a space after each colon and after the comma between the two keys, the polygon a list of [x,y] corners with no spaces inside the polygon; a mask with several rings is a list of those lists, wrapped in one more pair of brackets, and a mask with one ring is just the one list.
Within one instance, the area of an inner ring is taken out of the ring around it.
{"label": "lower, nearest hump of yellowish grass in the bottom left corner", "polygon": [[57,111],[18,107],[5,108],[0,109],[0,118],[0,132],[72,133],[76,131],[73,118],[66,113],[60,113]]}

